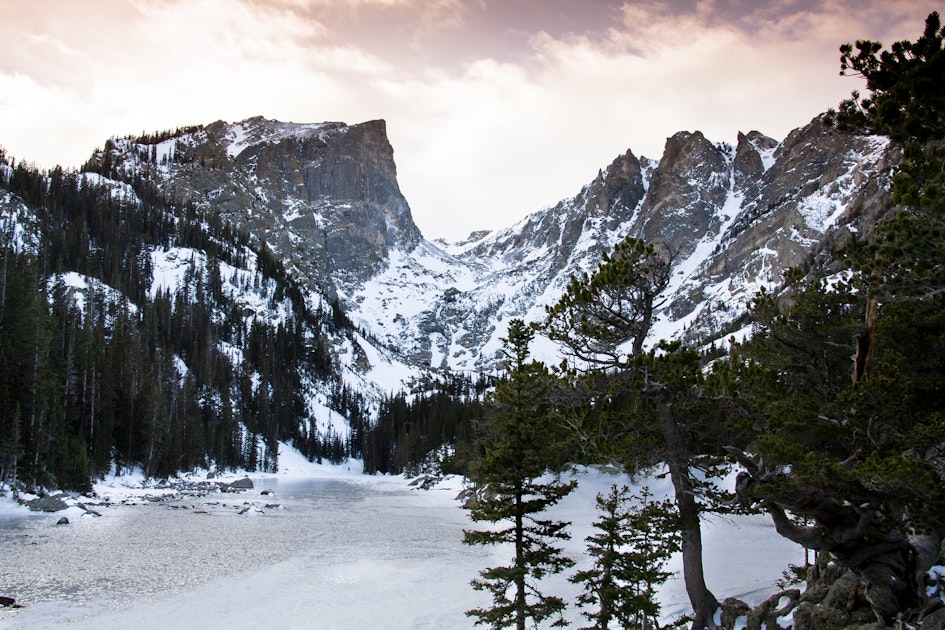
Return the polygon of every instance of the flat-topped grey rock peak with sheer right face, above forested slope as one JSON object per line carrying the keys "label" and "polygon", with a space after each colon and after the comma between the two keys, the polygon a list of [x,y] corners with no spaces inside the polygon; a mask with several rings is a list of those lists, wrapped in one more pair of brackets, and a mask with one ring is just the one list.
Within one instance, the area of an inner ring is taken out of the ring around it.
{"label": "flat-topped grey rock peak with sheer right face, above forested slope", "polygon": [[332,296],[336,279],[366,280],[392,248],[421,240],[382,120],[218,121],[107,148],[119,172],[142,173],[166,194],[223,214]]}

